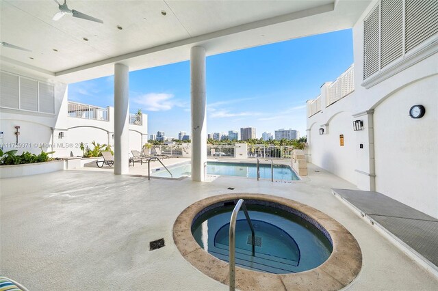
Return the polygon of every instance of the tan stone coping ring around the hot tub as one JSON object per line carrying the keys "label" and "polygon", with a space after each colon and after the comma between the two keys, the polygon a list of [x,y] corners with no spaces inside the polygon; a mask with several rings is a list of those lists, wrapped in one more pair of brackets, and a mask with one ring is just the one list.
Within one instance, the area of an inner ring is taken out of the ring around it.
{"label": "tan stone coping ring around the hot tub", "polygon": [[229,285],[229,264],[210,255],[194,239],[191,226],[203,208],[234,199],[258,199],[283,204],[307,214],[329,232],[333,251],[329,258],[309,271],[290,274],[270,274],[236,267],[236,288],[240,290],[339,290],[348,286],[359,274],[362,253],[357,240],[346,228],[327,214],[291,199],[255,193],[232,193],[208,197],[185,208],[172,230],[173,240],[183,258],[205,275]]}

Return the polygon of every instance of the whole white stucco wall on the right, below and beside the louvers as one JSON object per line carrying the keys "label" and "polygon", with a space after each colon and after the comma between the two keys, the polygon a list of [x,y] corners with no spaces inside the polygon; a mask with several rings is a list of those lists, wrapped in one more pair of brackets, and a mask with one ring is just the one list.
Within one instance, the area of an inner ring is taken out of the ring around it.
{"label": "whole white stucco wall on the right, below and beside the louvers", "polygon": [[[438,42],[426,40],[364,83],[363,19],[374,4],[352,31],[355,91],[307,118],[309,159],[359,189],[438,217]],[[416,104],[426,107],[419,120],[409,117]],[[353,120],[362,120],[363,130],[353,131]]]}

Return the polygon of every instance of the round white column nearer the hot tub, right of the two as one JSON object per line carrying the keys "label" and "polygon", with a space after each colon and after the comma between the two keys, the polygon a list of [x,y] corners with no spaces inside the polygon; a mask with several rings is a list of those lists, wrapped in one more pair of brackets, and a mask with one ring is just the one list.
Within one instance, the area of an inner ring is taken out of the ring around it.
{"label": "round white column nearer the hot tub, right of the two", "polygon": [[190,50],[190,93],[192,96],[192,180],[204,181],[207,162],[207,100],[205,97],[205,48]]}

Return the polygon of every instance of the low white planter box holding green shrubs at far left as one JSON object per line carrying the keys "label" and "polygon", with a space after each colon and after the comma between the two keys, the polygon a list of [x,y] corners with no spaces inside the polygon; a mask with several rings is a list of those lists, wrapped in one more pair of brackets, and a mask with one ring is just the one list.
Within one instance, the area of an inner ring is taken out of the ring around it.
{"label": "low white planter box holding green shrubs at far left", "polygon": [[46,163],[0,166],[0,178],[14,178],[61,171],[64,169],[64,163],[65,161],[50,161]]}

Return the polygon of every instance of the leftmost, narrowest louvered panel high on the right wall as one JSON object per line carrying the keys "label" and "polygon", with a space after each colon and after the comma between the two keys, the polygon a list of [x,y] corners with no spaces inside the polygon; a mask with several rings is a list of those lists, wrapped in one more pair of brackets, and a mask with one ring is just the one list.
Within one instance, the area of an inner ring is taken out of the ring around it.
{"label": "leftmost, narrowest louvered panel high on the right wall", "polygon": [[378,71],[378,6],[363,21],[363,79]]}

